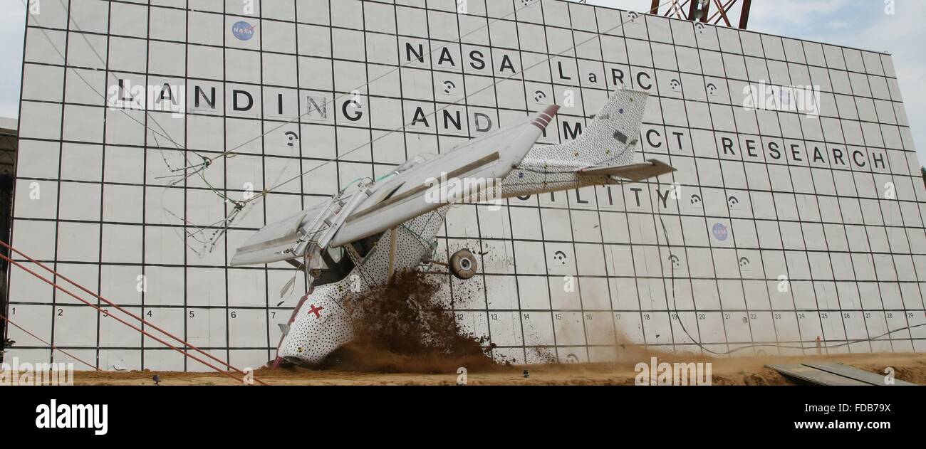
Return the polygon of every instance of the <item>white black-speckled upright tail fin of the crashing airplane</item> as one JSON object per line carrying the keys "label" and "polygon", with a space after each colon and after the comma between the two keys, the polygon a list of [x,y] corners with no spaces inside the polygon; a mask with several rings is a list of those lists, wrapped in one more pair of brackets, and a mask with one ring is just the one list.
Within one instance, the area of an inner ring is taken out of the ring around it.
{"label": "white black-speckled upright tail fin of the crashing airplane", "polygon": [[648,96],[645,92],[618,90],[588,121],[582,135],[569,142],[539,147],[536,157],[578,162],[585,167],[630,163]]}

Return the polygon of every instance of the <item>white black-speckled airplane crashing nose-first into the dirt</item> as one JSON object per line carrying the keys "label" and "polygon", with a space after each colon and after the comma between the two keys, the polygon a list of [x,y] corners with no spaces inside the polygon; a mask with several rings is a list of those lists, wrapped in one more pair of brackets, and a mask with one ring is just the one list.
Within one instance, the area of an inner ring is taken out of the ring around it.
{"label": "white black-speckled airplane crashing nose-first into the dirt", "polygon": [[[415,156],[380,180],[361,181],[350,193],[257,231],[238,248],[232,266],[286,261],[306,276],[306,295],[280,324],[277,363],[315,365],[350,342],[344,298],[387,283],[396,271],[432,263],[437,233],[453,204],[642,181],[674,171],[655,159],[628,165],[647,96],[619,90],[577,139],[535,145],[559,109],[548,106],[444,155]],[[446,265],[464,280],[478,267],[466,249]]]}

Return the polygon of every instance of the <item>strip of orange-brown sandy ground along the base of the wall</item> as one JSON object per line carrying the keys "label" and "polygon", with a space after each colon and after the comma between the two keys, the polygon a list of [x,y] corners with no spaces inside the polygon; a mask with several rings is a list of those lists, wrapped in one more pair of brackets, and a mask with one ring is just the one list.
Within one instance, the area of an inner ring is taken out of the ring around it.
{"label": "strip of orange-brown sandy ground along the base of the wall", "polygon": [[[646,361],[648,357],[634,358]],[[469,385],[632,385],[636,377],[635,362],[607,364],[537,365],[499,367],[483,372],[469,370]],[[825,361],[844,363],[883,374],[895,368],[895,378],[926,385],[926,354],[848,354],[816,356],[765,356],[710,358],[683,355],[659,355],[659,362],[712,362],[714,385],[793,385],[791,380],[764,368],[766,364]],[[522,376],[528,369],[530,378]],[[77,385],[154,385],[158,375],[161,385],[235,385],[240,384],[221,373],[184,372],[79,372]],[[344,370],[284,368],[257,370],[255,377],[271,385],[455,385],[457,373],[382,373]]]}

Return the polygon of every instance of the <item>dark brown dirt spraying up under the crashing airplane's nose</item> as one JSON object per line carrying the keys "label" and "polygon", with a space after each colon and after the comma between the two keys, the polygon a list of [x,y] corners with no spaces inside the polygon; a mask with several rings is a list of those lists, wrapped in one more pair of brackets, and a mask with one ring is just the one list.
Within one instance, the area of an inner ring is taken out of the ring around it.
{"label": "dark brown dirt spraying up under the crashing airplane's nose", "polygon": [[442,304],[439,289],[419,271],[407,271],[388,285],[346,297],[355,339],[321,368],[419,373],[498,368],[489,355],[493,344],[457,324],[453,303]]}

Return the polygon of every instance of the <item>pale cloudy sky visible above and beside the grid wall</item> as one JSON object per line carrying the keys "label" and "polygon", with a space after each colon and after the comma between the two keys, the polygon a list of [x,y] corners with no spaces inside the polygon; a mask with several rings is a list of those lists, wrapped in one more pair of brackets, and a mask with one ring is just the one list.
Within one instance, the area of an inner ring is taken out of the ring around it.
{"label": "pale cloudy sky visible above and beside the grid wall", "polygon": [[[16,118],[25,6],[24,0],[2,1],[0,117]],[[647,11],[650,7],[650,0],[586,3],[632,11]],[[888,4],[893,6],[894,14],[887,14]],[[753,0],[748,29],[894,55],[914,144],[920,164],[926,165],[926,0]]]}

